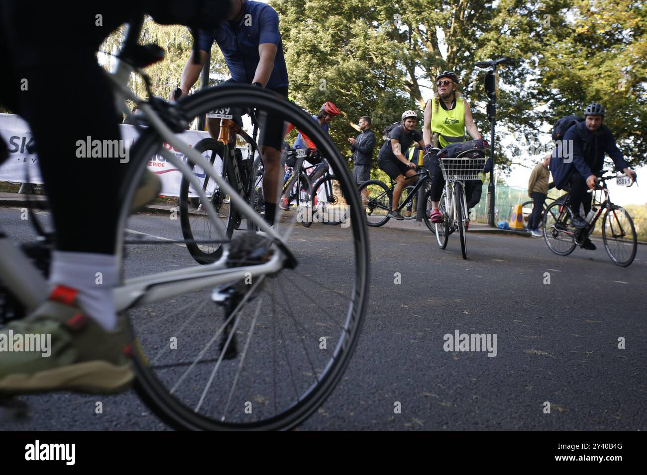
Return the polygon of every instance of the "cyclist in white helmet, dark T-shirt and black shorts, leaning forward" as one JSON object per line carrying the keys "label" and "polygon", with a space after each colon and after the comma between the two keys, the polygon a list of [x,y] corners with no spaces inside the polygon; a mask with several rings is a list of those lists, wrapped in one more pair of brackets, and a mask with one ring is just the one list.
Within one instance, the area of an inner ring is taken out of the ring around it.
{"label": "cyclist in white helmet, dark T-shirt and black shorts, leaning forward", "polygon": [[377,166],[384,170],[391,180],[396,182],[393,188],[393,203],[391,204],[389,216],[397,220],[404,219],[404,216],[397,211],[402,189],[415,182],[415,178],[407,178],[415,175],[415,163],[407,160],[403,153],[413,143],[417,143],[419,147],[424,145],[422,134],[415,129],[417,122],[417,112],[402,112],[400,125],[391,130],[388,140],[384,141],[384,145],[382,145],[377,156]]}

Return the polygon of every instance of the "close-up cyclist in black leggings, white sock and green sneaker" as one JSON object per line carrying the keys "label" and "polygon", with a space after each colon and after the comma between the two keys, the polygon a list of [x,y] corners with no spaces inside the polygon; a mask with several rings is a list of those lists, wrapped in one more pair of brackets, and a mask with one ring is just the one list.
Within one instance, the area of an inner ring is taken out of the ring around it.
{"label": "close-up cyclist in black leggings, white sock and green sneaker", "polygon": [[[100,15],[96,5],[83,2],[74,8],[43,4],[38,10],[19,0],[0,3],[0,101],[28,122],[38,143],[56,228],[49,299],[27,319],[0,329],[3,340],[10,332],[47,333],[52,352],[42,357],[40,352],[1,351],[0,392],[66,388],[107,393],[131,385],[131,335],[113,300],[120,278],[114,255],[120,184],[130,164],[119,158],[76,156],[80,138],[120,139],[121,117],[96,51],[133,16],[148,13],[158,23],[206,26],[229,10],[228,0],[115,0],[102,4]],[[30,34],[25,35],[27,30]],[[60,54],[43,54],[44,44]],[[61,98],[92,104],[92,116],[73,127],[52,127],[43,111],[60,109]],[[0,162],[4,159],[6,155],[0,156]],[[93,180],[79,180],[79,173]],[[144,203],[155,196],[149,193]]]}

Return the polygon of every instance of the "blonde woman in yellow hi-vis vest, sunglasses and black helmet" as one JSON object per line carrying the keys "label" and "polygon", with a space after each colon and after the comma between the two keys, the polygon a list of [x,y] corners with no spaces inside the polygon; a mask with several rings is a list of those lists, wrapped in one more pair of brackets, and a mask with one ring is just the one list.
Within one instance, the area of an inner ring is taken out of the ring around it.
{"label": "blonde woman in yellow hi-vis vest, sunglasses and black helmet", "polygon": [[[481,138],[476,128],[470,105],[458,91],[458,76],[452,71],[443,71],[436,76],[434,98],[427,101],[424,107],[424,127],[422,140],[424,150],[431,147],[442,149],[450,143],[465,142],[465,130],[474,140]],[[432,172],[432,222],[442,222],[443,213],[438,209],[443,195],[444,178],[438,161],[433,158],[430,165]],[[467,194],[467,189],[465,190]]]}

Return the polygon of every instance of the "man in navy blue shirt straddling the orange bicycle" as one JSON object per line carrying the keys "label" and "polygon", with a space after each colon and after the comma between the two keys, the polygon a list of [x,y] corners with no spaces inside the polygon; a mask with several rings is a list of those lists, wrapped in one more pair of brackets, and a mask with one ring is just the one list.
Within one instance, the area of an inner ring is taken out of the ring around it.
{"label": "man in navy blue shirt straddling the orange bicycle", "polygon": [[[225,56],[232,77],[225,83],[247,83],[265,87],[287,98],[288,76],[283,57],[283,43],[279,33],[279,17],[271,6],[253,0],[232,1],[232,12],[226,23],[215,29],[199,30],[199,61],[193,62],[193,53],[186,62],[180,89],[188,94],[200,76],[210,55],[214,41]],[[237,118],[239,125],[241,121]],[[220,131],[220,119],[210,118],[207,127],[212,137]],[[269,114],[261,129],[261,158],[265,173],[263,189],[277,190],[281,180],[281,143],[283,143],[283,120]],[[265,220],[274,224],[276,195],[267,193]]]}

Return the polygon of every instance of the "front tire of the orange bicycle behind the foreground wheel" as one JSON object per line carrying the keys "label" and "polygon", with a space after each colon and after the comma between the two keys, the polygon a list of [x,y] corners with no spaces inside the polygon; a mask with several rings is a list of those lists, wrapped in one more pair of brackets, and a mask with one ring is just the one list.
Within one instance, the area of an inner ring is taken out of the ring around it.
{"label": "front tire of the orange bicycle behind the foreground wheel", "polygon": [[[223,178],[225,178],[225,180],[227,180],[227,182],[236,187],[236,183],[230,180],[230,177],[234,176],[234,174],[231,171],[232,167],[229,160],[226,160],[225,158],[226,150],[223,143],[218,142],[214,138],[208,137],[197,142],[193,146],[193,148],[201,153],[211,151],[212,156],[210,157],[210,163],[212,164],[212,166],[214,165],[216,156],[220,156],[221,160],[223,161],[223,169],[221,175],[223,176]],[[208,187],[209,178],[210,177],[208,175],[204,176],[203,190]],[[182,229],[182,236],[188,241],[186,242],[186,248],[192,255],[193,259],[195,259],[195,262],[198,262],[199,264],[211,264],[212,262],[215,262],[215,260],[219,259],[219,257],[221,257],[223,249],[220,244],[209,245],[192,242],[193,240],[209,240],[210,238],[212,238],[212,223],[206,215],[199,215],[199,213],[190,213],[191,200],[189,198],[189,188],[190,185],[188,180],[184,176],[182,176],[179,198],[180,225]],[[221,209],[223,202],[225,201],[225,196],[221,195],[218,190],[214,191],[210,199],[212,200],[212,204],[214,204],[218,214],[221,215]],[[234,224],[236,221],[234,219],[234,211],[232,209],[232,206],[225,206],[225,213],[221,216],[225,218],[223,219],[223,224],[226,229],[227,237],[232,237],[232,233],[234,233]]]}

